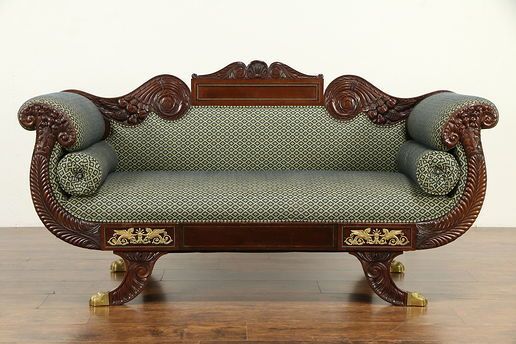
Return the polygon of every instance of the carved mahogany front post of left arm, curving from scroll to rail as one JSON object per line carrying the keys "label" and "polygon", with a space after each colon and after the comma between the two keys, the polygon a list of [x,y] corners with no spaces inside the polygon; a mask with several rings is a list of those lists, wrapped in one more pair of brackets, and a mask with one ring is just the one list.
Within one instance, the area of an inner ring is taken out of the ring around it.
{"label": "carved mahogany front post of left arm, curving from scroll to rail", "polygon": [[100,225],[74,218],[57,202],[49,176],[49,159],[56,142],[72,146],[77,135],[68,116],[46,104],[34,103],[19,114],[20,124],[36,130],[30,167],[30,189],[36,212],[48,230],[72,245],[100,249]]}

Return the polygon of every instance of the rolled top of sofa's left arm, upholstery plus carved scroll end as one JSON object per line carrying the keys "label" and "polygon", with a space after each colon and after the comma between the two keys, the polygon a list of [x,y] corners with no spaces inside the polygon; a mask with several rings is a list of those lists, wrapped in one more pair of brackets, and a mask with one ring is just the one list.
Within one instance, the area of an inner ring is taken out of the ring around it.
{"label": "rolled top of sofa's left arm, upholstery plus carved scroll end", "polygon": [[[68,151],[85,149],[104,136],[106,123],[98,108],[86,97],[57,92],[26,101],[18,111],[18,120],[27,130],[45,131]],[[36,149],[45,150],[45,142]]]}

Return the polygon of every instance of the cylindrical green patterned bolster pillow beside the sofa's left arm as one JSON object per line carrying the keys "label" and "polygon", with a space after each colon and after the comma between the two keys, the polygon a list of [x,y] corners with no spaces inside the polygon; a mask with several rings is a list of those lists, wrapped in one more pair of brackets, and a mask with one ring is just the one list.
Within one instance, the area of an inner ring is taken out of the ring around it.
{"label": "cylindrical green patterned bolster pillow beside the sofa's left arm", "polygon": [[61,188],[72,196],[91,195],[117,163],[113,148],[101,141],[83,151],[66,154],[57,165],[57,180]]}

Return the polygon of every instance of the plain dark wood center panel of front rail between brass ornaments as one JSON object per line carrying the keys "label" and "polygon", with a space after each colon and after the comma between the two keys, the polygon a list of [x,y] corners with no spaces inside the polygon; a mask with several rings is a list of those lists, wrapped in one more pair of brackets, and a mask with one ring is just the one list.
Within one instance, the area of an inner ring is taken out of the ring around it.
{"label": "plain dark wood center panel of front rail between brass ornaments", "polygon": [[335,249],[331,224],[199,224],[184,225],[183,248],[245,250]]}

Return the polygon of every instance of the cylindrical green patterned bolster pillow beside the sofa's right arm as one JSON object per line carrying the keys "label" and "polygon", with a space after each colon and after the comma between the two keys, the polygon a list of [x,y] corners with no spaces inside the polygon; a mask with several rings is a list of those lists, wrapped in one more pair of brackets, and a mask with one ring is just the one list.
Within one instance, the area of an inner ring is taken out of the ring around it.
{"label": "cylindrical green patterned bolster pillow beside the sofa's right arm", "polygon": [[400,147],[397,160],[398,169],[428,194],[446,195],[459,181],[459,164],[448,152],[407,141]]}

